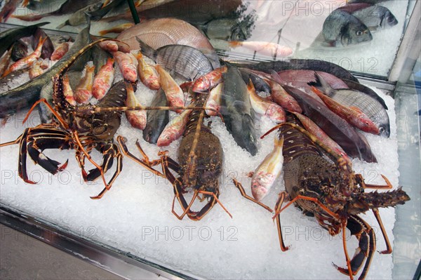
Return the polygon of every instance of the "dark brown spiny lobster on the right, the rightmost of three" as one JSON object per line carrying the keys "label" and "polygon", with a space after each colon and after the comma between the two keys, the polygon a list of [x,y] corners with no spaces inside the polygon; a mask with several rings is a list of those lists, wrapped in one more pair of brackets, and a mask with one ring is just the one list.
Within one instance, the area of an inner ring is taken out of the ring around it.
{"label": "dark brown spiny lobster on the right, the rightmost of three", "polygon": [[[387,185],[365,184],[363,177],[352,171],[350,161],[323,145],[298,123],[295,116],[289,115],[288,123],[279,128],[279,137],[284,137],[283,178],[286,189],[279,194],[275,208],[281,250],[286,251],[288,247],[283,244],[279,214],[295,203],[304,213],[314,215],[329,234],[336,235],[342,231],[347,268],[335,267],[353,279],[365,260],[359,276],[359,279],[364,279],[375,252],[375,232],[359,214],[373,211],[387,246],[380,253],[392,253],[377,208],[404,204],[410,198],[401,188],[382,193],[364,192],[366,188],[389,189],[392,185],[383,175]],[[286,200],[289,200],[288,204],[282,207]],[[352,259],[347,253],[346,228],[359,240]]]}

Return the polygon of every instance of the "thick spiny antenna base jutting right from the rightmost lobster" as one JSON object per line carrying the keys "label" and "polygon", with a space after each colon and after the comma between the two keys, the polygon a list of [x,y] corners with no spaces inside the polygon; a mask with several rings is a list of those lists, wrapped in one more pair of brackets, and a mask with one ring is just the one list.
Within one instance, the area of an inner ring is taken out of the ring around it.
{"label": "thick spiny antenna base jutting right from the rightmost lobster", "polygon": [[391,192],[364,192],[359,194],[358,200],[366,204],[368,208],[386,208],[394,207],[398,204],[405,204],[410,198],[402,187],[394,189]]}

